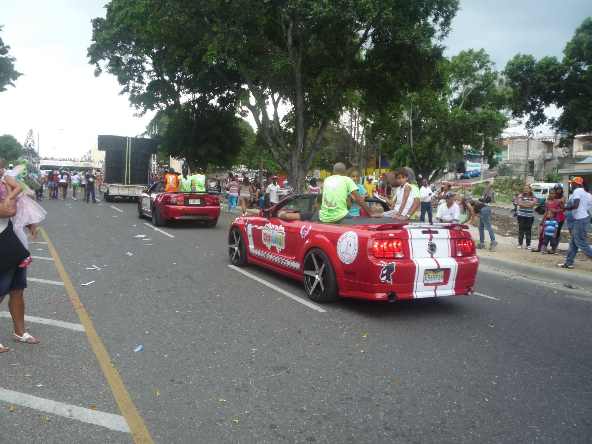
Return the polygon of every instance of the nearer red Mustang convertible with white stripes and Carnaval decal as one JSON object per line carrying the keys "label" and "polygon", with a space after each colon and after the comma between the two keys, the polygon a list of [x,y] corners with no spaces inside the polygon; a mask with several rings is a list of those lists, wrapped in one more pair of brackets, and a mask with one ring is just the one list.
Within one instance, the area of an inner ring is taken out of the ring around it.
{"label": "nearer red Mustang convertible with white stripes and Carnaval decal", "polygon": [[474,291],[479,259],[466,226],[369,217],[327,224],[277,217],[279,210],[311,211],[316,197],[291,195],[259,215],[235,219],[229,233],[232,263],[256,263],[302,279],[308,297],[318,303],[339,296],[392,302]]}

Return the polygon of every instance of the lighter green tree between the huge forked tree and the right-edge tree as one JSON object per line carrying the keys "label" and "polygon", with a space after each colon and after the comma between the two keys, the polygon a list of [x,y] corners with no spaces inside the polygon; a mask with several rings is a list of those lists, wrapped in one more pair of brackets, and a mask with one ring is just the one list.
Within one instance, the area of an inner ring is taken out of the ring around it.
{"label": "lighter green tree between the huge forked tree and the right-edge tree", "polygon": [[392,166],[412,166],[433,180],[465,147],[496,165],[493,141],[507,126],[506,91],[483,49],[442,58],[439,76],[375,112],[371,134]]}

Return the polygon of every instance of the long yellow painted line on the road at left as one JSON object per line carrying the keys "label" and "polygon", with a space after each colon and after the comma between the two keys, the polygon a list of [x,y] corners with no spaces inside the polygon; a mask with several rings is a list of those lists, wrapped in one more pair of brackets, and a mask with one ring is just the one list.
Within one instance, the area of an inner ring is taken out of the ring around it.
{"label": "long yellow painted line on the road at left", "polygon": [[[54,249],[52,242],[49,240],[49,237],[47,237],[47,233],[42,227],[38,228],[37,230],[41,231],[41,234],[43,234],[43,239],[45,239],[45,242],[47,242],[47,248],[49,248],[50,252],[52,252],[57,271],[60,272],[62,281],[66,285],[68,295],[70,296],[70,299],[75,300],[74,306],[77,307],[78,305],[82,305],[82,301],[78,299],[78,294],[76,294],[76,290],[74,289],[72,282],[70,282],[70,278],[68,277],[66,270],[62,265],[62,261],[57,255],[56,249]],[[146,425],[144,425],[140,414],[136,410],[136,406],[134,406],[134,403],[131,401],[131,397],[127,392],[126,386],[123,385],[123,381],[121,381],[121,377],[118,374],[117,369],[115,369],[115,366],[111,362],[105,346],[101,342],[98,333],[96,333],[95,327],[92,325],[91,318],[88,316],[88,313],[86,313],[84,307],[77,308],[76,313],[78,313],[81,324],[86,330],[88,342],[91,343],[96,358],[99,360],[99,364],[101,364],[101,368],[103,369],[105,378],[107,378],[107,381],[109,382],[111,391],[115,397],[115,401],[117,401],[117,405],[119,406],[119,410],[121,410],[121,414],[126,419],[128,426],[130,426],[131,436],[137,444],[154,444],[148,429],[146,429]]]}

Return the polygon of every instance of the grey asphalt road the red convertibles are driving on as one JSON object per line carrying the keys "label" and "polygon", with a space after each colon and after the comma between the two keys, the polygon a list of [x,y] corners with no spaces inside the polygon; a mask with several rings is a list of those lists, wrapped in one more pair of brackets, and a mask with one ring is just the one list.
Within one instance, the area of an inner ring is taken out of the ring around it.
{"label": "grey asphalt road the red convertibles are driving on", "polygon": [[[98,337],[27,321],[41,343],[12,343],[0,319],[14,348],[0,355],[3,442],[592,441],[584,292],[480,272],[475,291],[490,298],[344,299],[320,313],[229,268],[224,212],[213,228],[169,224],[169,237],[128,202],[42,205],[58,260],[35,259],[28,277],[71,281],[79,300],[29,281],[26,314],[76,325],[83,316],[67,305],[83,304]],[[49,243],[31,251],[55,259]],[[305,298],[300,282],[244,271]],[[117,378],[130,396],[121,405]],[[5,401],[12,391],[18,402]],[[19,394],[33,395],[29,407]],[[53,401],[83,420],[48,413]],[[86,422],[93,406],[109,415]],[[134,436],[117,430],[121,406]]]}

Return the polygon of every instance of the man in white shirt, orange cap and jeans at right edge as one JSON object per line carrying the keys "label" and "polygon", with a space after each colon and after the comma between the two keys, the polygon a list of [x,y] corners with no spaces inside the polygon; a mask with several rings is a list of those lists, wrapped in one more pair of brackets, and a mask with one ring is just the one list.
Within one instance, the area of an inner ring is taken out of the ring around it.
{"label": "man in white shirt, orange cap and jeans at right edge", "polygon": [[567,259],[564,263],[558,263],[557,266],[561,268],[574,268],[575,253],[578,249],[582,250],[585,255],[592,257],[592,248],[588,245],[586,240],[586,233],[590,228],[590,207],[592,207],[592,195],[586,192],[584,179],[580,176],[574,177],[571,181],[571,188],[574,190],[571,198],[574,200],[573,205],[565,205],[558,201],[558,204],[564,210],[572,210],[574,214],[574,226],[571,229],[570,248],[567,250]]}

